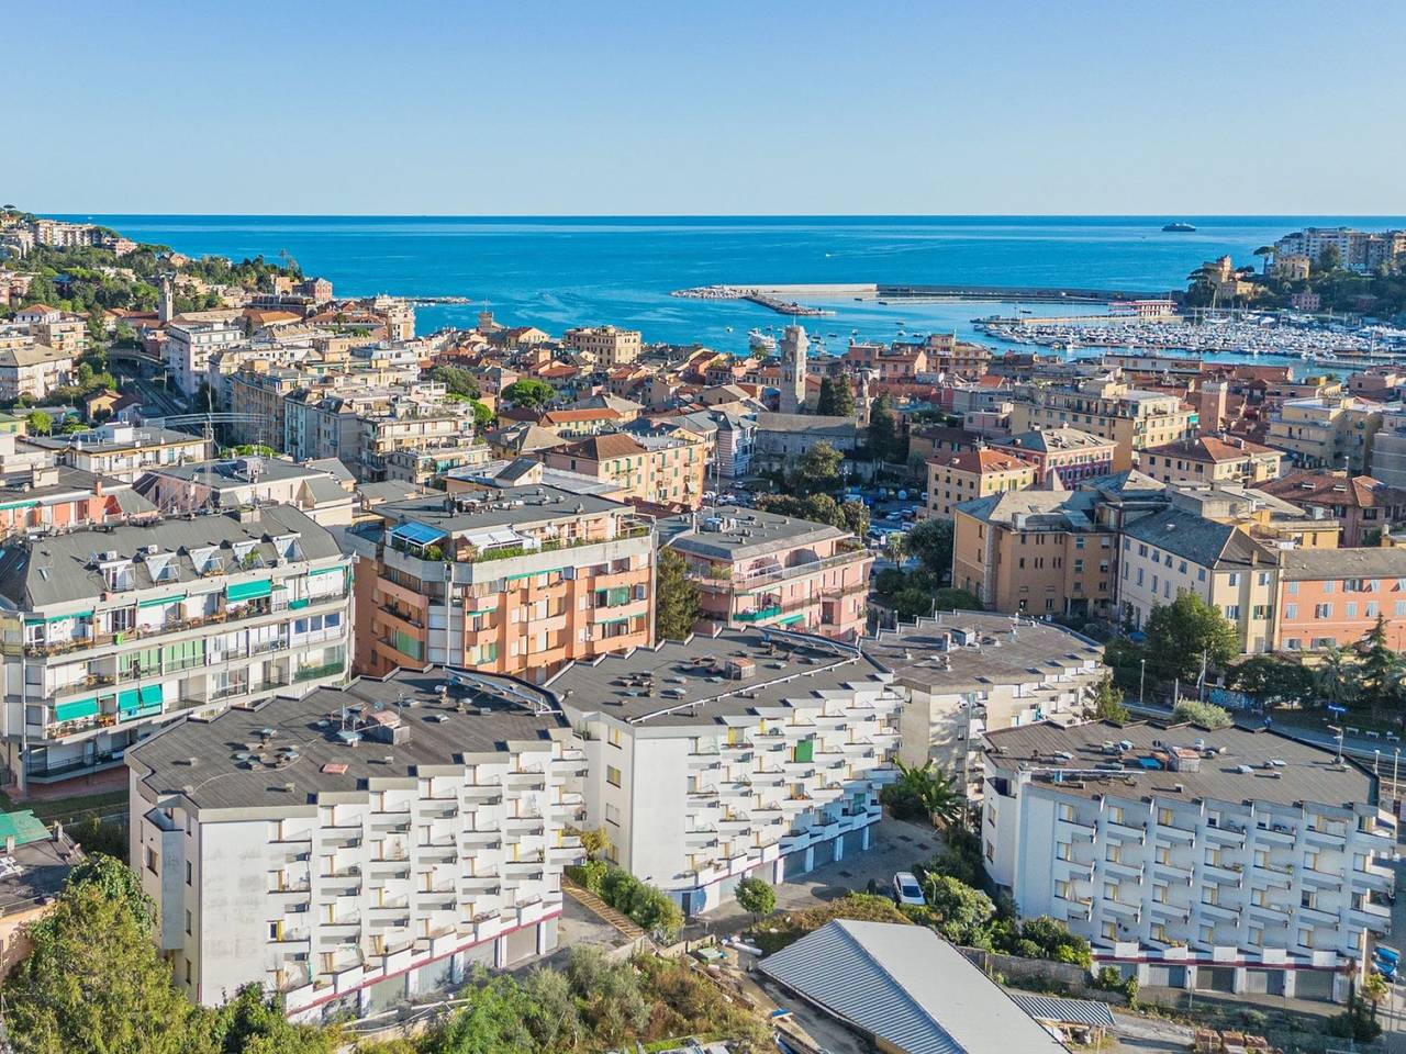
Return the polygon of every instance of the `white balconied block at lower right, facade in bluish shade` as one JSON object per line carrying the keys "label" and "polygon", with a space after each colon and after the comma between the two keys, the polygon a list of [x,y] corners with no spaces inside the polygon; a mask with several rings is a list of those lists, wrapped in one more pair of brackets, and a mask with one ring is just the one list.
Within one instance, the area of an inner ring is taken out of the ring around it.
{"label": "white balconied block at lower right, facade in bluish shade", "polygon": [[[1045,722],[986,735],[981,843],[1022,916],[1139,984],[1347,998],[1386,932],[1376,779],[1268,731]],[[1378,898],[1378,899],[1374,899]]]}

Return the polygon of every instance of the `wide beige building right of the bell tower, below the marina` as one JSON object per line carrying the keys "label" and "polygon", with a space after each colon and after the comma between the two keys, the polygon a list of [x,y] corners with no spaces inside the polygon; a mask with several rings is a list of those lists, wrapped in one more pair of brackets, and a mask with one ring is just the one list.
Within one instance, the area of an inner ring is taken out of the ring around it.
{"label": "wide beige building right of the bell tower, below the marina", "polygon": [[1132,468],[1137,451],[1191,438],[1197,424],[1197,412],[1175,395],[1129,388],[1112,375],[1073,386],[1021,385],[1011,408],[1014,434],[1067,426],[1115,441],[1115,472]]}

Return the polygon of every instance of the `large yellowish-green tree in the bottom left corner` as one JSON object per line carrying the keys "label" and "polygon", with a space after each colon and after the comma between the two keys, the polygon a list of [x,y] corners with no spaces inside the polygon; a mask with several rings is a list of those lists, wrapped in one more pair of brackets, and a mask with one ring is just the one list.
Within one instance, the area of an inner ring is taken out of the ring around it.
{"label": "large yellowish-green tree in the bottom left corner", "polygon": [[15,1054],[191,1054],[202,1016],[172,985],[150,928],[107,878],[70,881],[30,926],[32,949],[4,982]]}

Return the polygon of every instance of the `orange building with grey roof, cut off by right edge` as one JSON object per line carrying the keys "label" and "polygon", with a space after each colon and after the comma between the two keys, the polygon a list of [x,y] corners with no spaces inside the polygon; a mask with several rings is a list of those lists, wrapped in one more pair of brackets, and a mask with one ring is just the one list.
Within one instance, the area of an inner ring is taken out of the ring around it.
{"label": "orange building with grey roof, cut off by right edge", "polygon": [[1275,651],[1350,648],[1378,616],[1386,644],[1406,651],[1406,549],[1281,552],[1275,614]]}

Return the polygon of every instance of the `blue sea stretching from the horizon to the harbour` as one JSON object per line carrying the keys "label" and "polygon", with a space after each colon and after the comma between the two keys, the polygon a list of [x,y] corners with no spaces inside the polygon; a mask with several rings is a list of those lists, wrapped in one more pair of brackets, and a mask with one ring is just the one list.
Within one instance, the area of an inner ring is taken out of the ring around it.
{"label": "blue sea stretching from the horizon to the harbour", "polygon": [[[285,252],[339,295],[468,297],[471,306],[422,308],[418,329],[472,326],[488,304],[499,322],[551,333],[575,325],[640,329],[647,341],[744,350],[747,332],[780,327],[763,308],[689,301],[671,289],[728,284],[980,284],[1184,288],[1201,261],[1253,252],[1302,226],[1406,226],[1399,216],[65,216],[141,242],[233,259]],[[1178,219],[1194,233],[1164,233]],[[834,333],[894,337],[955,330],[1011,313],[1012,304],[894,304],[842,299],[807,320]],[[1059,306],[1059,305],[1056,305]],[[1039,313],[1053,313],[1042,305]]]}

